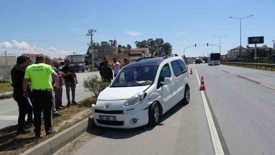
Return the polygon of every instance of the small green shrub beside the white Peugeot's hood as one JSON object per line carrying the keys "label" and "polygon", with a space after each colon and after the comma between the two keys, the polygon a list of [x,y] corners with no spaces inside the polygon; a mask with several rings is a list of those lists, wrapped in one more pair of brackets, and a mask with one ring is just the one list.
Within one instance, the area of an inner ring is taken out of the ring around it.
{"label": "small green shrub beside the white Peugeot's hood", "polygon": [[110,85],[110,82],[102,81],[98,75],[91,75],[83,81],[86,92],[91,92],[97,98],[99,93]]}

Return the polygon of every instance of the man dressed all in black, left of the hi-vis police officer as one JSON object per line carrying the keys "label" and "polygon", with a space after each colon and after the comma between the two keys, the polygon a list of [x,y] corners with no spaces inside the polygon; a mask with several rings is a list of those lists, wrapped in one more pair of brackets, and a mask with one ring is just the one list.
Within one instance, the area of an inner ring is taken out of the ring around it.
{"label": "man dressed all in black, left of the hi-vis police officer", "polygon": [[[24,70],[25,67],[26,58],[24,56],[19,56],[16,60],[16,65],[14,65],[10,73],[13,81],[13,99],[17,102],[19,110],[18,134],[26,134],[31,132],[30,130],[24,129],[25,116],[30,108],[27,98],[23,96],[23,80],[26,71]],[[27,90],[29,91],[29,86],[27,87]]]}

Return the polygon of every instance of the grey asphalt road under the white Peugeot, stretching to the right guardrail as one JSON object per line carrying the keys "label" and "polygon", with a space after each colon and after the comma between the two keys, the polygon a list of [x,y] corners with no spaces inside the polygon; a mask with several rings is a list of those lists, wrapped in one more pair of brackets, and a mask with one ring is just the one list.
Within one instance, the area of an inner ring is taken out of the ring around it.
{"label": "grey asphalt road under the white Peugeot, stretching to the right guardrail", "polygon": [[[207,64],[191,68],[190,103],[175,105],[158,126],[98,128],[55,154],[215,154],[218,146],[220,154],[275,154],[275,72]],[[202,93],[196,70],[204,77]]]}

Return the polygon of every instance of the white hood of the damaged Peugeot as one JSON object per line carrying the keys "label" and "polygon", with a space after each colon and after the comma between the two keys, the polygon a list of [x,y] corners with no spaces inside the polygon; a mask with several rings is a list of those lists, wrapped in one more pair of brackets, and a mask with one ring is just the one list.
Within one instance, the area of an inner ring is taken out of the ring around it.
{"label": "white hood of the damaged Peugeot", "polygon": [[137,87],[107,87],[97,97],[97,100],[125,100],[144,91],[150,85]]}

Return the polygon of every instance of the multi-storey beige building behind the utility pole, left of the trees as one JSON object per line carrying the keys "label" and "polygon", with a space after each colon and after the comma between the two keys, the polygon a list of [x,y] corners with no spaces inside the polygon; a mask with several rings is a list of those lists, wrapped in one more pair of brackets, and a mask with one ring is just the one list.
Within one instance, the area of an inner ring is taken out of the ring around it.
{"label": "multi-storey beige building behind the utility pole, left of the trees", "polygon": [[[99,46],[94,51],[94,60],[102,60],[109,54],[118,54],[118,47],[116,46]],[[90,53],[92,55],[92,53]]]}

